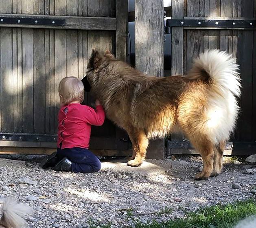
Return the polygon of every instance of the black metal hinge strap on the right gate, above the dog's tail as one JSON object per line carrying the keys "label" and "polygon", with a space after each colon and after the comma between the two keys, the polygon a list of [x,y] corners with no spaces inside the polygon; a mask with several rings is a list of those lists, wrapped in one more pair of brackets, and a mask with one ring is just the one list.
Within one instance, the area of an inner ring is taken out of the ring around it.
{"label": "black metal hinge strap on the right gate, above the dog's tail", "polygon": [[171,27],[196,27],[196,28],[245,28],[256,29],[256,20],[218,20],[218,19],[167,19],[165,33],[171,33]]}

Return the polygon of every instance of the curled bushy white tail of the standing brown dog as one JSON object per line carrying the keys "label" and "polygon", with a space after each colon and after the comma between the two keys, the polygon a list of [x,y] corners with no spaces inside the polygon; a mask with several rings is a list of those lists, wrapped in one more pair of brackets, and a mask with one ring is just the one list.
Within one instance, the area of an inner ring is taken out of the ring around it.
{"label": "curled bushy white tail of the standing brown dog", "polygon": [[227,91],[241,95],[241,78],[236,60],[225,51],[207,50],[194,60],[188,78],[206,80],[212,89],[225,97]]}

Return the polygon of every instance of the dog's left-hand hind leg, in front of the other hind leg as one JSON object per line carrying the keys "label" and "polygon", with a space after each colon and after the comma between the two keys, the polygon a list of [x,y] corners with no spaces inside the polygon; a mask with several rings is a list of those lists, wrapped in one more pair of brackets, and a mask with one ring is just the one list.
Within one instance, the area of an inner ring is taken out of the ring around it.
{"label": "dog's left-hand hind leg, in front of the other hind leg", "polygon": [[213,172],[214,144],[207,139],[194,141],[190,139],[195,149],[201,154],[203,159],[203,169],[195,176],[196,180],[204,180],[210,177]]}

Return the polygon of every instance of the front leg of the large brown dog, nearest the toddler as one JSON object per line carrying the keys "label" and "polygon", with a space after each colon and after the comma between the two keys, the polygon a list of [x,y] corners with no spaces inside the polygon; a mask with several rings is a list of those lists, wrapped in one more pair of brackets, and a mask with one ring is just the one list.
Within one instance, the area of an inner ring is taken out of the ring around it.
{"label": "front leg of the large brown dog, nearest the toddler", "polygon": [[129,132],[129,137],[133,145],[133,160],[128,161],[127,165],[138,167],[144,161],[149,140],[142,130],[133,130]]}

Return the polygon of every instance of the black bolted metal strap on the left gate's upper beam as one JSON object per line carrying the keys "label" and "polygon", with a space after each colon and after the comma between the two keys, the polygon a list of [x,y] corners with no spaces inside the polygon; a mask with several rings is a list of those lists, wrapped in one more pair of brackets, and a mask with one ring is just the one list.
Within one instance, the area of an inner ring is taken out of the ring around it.
{"label": "black bolted metal strap on the left gate's upper beam", "polygon": [[31,18],[18,18],[18,17],[0,17],[0,24],[28,24],[28,25],[51,25],[63,26],[65,25],[64,19],[50,19],[42,17]]}

